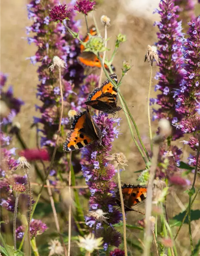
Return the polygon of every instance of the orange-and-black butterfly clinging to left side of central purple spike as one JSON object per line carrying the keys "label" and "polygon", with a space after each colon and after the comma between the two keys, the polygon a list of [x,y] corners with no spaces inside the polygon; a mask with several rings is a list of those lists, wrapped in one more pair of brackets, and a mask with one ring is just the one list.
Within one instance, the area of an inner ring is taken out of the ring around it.
{"label": "orange-and-black butterfly clinging to left side of central purple spike", "polygon": [[63,143],[63,150],[77,150],[95,141],[101,142],[101,140],[102,133],[87,108],[86,111],[80,112],[78,115],[74,116],[71,130],[68,132],[67,138]]}

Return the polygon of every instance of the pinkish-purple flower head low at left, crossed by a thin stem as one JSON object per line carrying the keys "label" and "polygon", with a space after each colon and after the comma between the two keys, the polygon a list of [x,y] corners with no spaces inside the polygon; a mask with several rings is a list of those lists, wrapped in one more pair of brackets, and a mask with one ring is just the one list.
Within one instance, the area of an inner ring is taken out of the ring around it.
{"label": "pinkish-purple flower head low at left, crossed by a thin stem", "polygon": [[[31,239],[38,235],[43,234],[46,229],[47,229],[46,224],[44,224],[41,220],[32,219],[30,222],[30,237],[31,237]],[[21,240],[24,236],[24,230],[25,230],[25,227],[19,226],[16,229],[16,238]]]}

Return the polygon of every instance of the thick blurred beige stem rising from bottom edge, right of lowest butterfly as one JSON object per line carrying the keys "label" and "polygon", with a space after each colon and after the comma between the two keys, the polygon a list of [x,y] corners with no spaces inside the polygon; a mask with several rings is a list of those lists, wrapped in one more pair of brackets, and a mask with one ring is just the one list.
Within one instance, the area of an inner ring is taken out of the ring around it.
{"label": "thick blurred beige stem rising from bottom edge, right of lowest butterfly", "polygon": [[158,163],[158,153],[159,153],[159,144],[155,144],[153,148],[153,157],[152,164],[149,170],[149,181],[147,186],[147,197],[146,197],[146,206],[145,206],[145,233],[144,233],[144,256],[150,254],[151,241],[152,241],[152,231],[151,231],[151,220],[150,216],[152,213],[152,195],[153,195],[153,182],[156,172],[156,167]]}

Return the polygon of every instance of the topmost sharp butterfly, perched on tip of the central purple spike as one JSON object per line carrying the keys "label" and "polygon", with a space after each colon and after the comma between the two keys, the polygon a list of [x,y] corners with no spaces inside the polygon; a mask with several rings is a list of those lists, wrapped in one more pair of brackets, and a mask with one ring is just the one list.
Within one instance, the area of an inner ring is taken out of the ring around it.
{"label": "topmost sharp butterfly, perched on tip of the central purple spike", "polygon": [[[118,80],[115,73],[111,74],[110,78],[112,78],[117,84]],[[105,113],[112,114],[122,109],[121,107],[117,106],[117,101],[117,90],[107,79],[105,82],[102,83],[100,88],[95,88],[88,95],[85,104]]]}

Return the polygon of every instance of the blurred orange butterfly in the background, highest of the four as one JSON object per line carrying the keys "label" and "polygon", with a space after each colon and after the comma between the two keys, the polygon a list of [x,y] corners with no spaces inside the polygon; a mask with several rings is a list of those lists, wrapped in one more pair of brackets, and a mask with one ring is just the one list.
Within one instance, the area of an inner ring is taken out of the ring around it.
{"label": "blurred orange butterfly in the background, highest of the four", "polygon": [[[94,25],[92,25],[89,28],[89,34],[92,36],[97,36],[97,32],[96,32],[96,28]],[[87,42],[89,40],[89,35],[87,34],[84,39],[83,42]],[[81,44],[80,45],[80,55],[77,57],[78,62],[82,65],[82,66],[87,66],[89,68],[101,68],[101,62],[98,59],[98,57],[93,53],[93,52],[84,52],[84,45]],[[101,56],[102,58],[102,56]],[[104,64],[104,67],[108,70],[108,66],[106,64]],[[111,65],[112,70],[114,71],[115,68],[113,65]]]}

